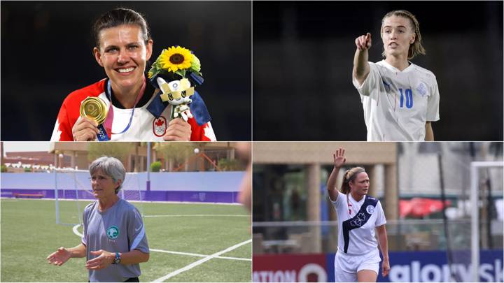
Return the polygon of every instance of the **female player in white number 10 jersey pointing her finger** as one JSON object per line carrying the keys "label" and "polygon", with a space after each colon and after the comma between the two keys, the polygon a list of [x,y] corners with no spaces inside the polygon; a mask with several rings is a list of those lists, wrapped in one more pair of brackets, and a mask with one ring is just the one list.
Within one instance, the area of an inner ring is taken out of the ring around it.
{"label": "female player in white number 10 jersey pointing her finger", "polygon": [[368,62],[371,34],[356,38],[352,82],[363,103],[368,141],[434,140],[431,122],[439,117],[435,75],[409,59],[425,55],[419,22],[407,10],[381,20],[384,60]]}

